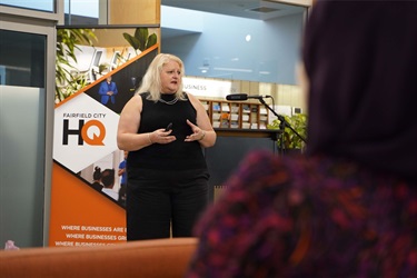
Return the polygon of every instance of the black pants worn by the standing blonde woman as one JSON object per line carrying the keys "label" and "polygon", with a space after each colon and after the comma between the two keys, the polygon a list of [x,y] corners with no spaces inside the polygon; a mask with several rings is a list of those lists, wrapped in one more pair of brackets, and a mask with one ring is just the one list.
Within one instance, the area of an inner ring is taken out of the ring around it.
{"label": "black pants worn by the standing blonde woman", "polygon": [[191,237],[208,203],[207,170],[129,169],[127,239]]}

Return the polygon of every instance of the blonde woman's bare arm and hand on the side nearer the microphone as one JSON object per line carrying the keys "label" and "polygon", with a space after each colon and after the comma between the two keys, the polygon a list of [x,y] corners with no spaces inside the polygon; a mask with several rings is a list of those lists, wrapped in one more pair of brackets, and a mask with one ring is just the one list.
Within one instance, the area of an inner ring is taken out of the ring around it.
{"label": "blonde woman's bare arm and hand on the side nearer the microphone", "polygon": [[205,148],[212,147],[216,143],[217,135],[215,129],[210,123],[210,119],[206,112],[205,107],[201,105],[195,96],[187,92],[188,99],[197,111],[197,126],[187,121],[192,129],[192,135],[186,138],[186,141],[198,140],[200,145]]}

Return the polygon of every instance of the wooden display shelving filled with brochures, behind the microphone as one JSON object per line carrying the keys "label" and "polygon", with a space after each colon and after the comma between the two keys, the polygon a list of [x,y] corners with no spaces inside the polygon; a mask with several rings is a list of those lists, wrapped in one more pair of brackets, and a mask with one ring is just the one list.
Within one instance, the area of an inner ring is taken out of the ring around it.
{"label": "wooden display shelving filled with brochures, behind the microphone", "polygon": [[214,128],[266,129],[269,110],[262,103],[200,99]]}

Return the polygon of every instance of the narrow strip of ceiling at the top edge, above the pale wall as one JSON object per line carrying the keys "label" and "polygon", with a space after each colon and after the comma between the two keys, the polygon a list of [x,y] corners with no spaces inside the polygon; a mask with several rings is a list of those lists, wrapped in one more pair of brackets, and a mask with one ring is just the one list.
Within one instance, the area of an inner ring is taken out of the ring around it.
{"label": "narrow strip of ceiling at the top edge, above the pale wall", "polygon": [[161,0],[162,6],[231,17],[269,20],[305,11],[305,7],[274,0]]}

